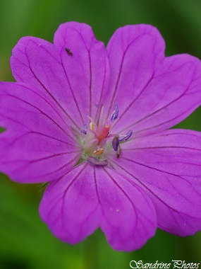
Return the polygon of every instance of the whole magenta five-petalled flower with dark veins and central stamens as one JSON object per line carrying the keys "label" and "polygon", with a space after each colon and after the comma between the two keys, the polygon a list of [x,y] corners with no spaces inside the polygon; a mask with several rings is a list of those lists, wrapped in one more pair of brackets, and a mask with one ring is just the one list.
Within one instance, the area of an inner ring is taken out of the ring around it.
{"label": "whole magenta five-petalled flower with dark veins and central stamens", "polygon": [[32,37],[13,49],[16,83],[0,84],[0,170],[49,182],[39,214],[76,244],[98,227],[132,251],[159,227],[201,229],[201,135],[168,130],[201,103],[201,64],[164,57],[150,25],[119,28],[104,47],[91,28],[64,23],[54,45]]}

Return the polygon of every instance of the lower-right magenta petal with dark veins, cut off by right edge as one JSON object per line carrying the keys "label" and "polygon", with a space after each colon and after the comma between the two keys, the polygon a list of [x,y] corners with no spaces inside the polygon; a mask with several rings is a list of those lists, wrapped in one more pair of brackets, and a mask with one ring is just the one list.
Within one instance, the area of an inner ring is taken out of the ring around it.
{"label": "lower-right magenta petal with dark veins, cut off by right edge", "polygon": [[201,229],[201,134],[168,130],[123,145],[118,168],[150,196],[158,227],[186,236]]}

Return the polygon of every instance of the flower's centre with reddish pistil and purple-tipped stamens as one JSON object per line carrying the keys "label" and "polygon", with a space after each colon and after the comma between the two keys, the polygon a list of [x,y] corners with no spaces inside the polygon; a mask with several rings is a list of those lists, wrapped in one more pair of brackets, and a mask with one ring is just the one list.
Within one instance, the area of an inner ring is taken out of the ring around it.
{"label": "flower's centre with reddish pistil and purple-tipped stamens", "polygon": [[126,135],[113,134],[112,128],[118,122],[118,106],[115,103],[114,111],[109,118],[104,122],[104,107],[102,106],[99,120],[96,124],[95,120],[90,118],[90,124],[84,124],[80,133],[79,142],[83,147],[83,155],[78,161],[78,164],[87,160],[90,164],[95,166],[106,166],[106,154],[109,151],[116,151],[116,157],[120,156],[120,144],[130,138],[133,132],[130,130]]}

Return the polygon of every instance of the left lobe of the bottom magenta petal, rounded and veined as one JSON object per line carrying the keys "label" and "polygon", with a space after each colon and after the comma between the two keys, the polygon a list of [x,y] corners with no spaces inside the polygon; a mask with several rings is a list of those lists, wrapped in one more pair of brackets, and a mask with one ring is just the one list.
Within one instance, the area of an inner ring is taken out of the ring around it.
{"label": "left lobe of the bottom magenta petal, rounded and veined", "polygon": [[102,218],[92,170],[86,164],[76,166],[49,183],[39,206],[39,214],[53,234],[70,244],[92,234]]}

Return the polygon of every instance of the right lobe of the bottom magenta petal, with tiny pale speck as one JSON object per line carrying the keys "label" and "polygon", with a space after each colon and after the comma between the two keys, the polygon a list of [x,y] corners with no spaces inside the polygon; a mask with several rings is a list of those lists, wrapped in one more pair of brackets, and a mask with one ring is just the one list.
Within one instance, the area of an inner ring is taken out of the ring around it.
{"label": "right lobe of the bottom magenta petal, with tiny pale speck", "polygon": [[95,176],[104,216],[101,229],[109,244],[118,251],[141,248],[157,228],[152,201],[138,184],[114,169],[97,169]]}

